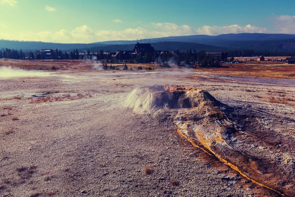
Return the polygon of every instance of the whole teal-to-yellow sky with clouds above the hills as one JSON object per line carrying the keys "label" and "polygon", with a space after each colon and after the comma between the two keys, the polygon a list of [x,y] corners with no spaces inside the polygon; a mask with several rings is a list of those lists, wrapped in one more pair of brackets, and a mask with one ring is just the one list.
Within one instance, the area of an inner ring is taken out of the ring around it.
{"label": "whole teal-to-yellow sky with clouds above the hills", "polygon": [[295,0],[0,0],[0,39],[92,43],[178,35],[295,34]]}

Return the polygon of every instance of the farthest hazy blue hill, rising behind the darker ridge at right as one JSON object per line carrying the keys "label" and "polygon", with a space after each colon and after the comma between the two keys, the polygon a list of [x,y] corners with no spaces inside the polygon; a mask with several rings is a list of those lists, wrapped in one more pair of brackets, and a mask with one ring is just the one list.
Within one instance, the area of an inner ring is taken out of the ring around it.
{"label": "farthest hazy blue hill, rising behind the darker ridge at right", "polygon": [[[144,42],[145,40],[139,40]],[[132,41],[105,41],[95,42],[96,44],[134,44]],[[199,43],[210,46],[228,48],[228,50],[253,49],[260,51],[284,51],[295,52],[295,34],[268,34],[268,33],[237,33],[221,35],[188,35],[172,36],[149,39],[150,43],[154,42],[184,42]]]}

